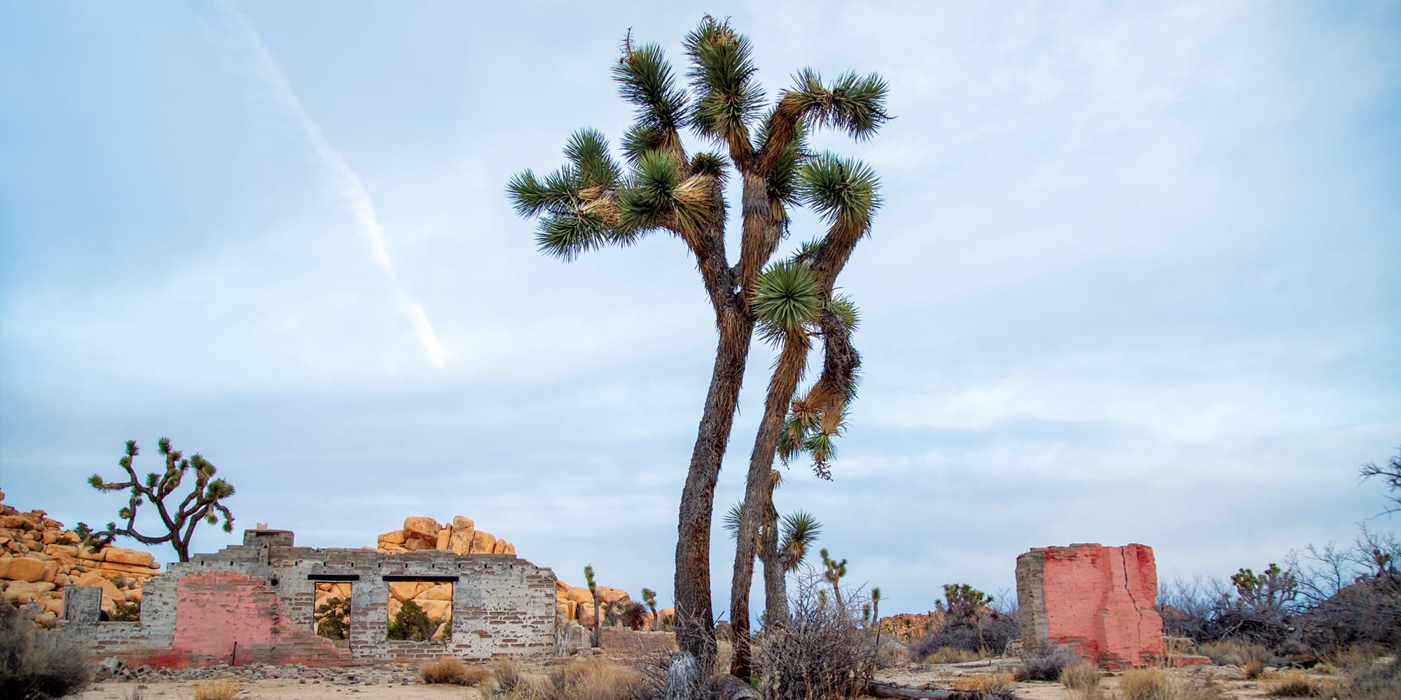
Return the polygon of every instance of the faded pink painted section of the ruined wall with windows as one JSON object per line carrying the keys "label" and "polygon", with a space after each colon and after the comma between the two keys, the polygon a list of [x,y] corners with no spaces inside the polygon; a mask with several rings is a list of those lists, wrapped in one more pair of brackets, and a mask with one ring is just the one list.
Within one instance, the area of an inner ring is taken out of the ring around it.
{"label": "faded pink painted section of the ruined wall with windows", "polygon": [[338,665],[350,655],[331,640],[293,624],[277,602],[277,591],[262,578],[234,571],[191,574],[179,580],[175,648],[193,665],[237,662]]}

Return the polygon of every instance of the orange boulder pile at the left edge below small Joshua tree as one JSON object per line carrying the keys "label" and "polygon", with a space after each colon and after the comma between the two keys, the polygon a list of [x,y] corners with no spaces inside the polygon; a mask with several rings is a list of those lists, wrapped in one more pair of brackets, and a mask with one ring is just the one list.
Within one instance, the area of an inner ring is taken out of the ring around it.
{"label": "orange boulder pile at the left edge below small Joshua tree", "polygon": [[38,603],[43,613],[35,622],[41,624],[63,615],[69,585],[102,588],[102,610],[112,615],[118,603],[140,602],[142,584],[161,575],[158,570],[146,552],[111,546],[91,552],[43,511],[20,512],[0,503],[0,596],[15,605]]}

